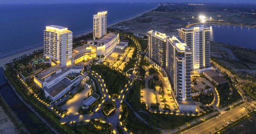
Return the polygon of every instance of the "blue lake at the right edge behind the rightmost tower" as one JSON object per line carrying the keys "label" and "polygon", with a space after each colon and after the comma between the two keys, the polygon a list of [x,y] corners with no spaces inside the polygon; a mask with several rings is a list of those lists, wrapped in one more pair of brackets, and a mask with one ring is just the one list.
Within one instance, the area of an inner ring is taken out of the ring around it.
{"label": "blue lake at the right edge behind the rightmost tower", "polygon": [[256,28],[212,25],[211,40],[217,43],[256,49]]}

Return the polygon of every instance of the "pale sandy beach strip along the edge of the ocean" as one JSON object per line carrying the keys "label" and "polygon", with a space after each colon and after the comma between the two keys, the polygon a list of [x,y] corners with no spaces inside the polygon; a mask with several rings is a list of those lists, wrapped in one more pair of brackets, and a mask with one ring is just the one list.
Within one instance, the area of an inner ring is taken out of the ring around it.
{"label": "pale sandy beach strip along the edge of the ocean", "polygon": [[[127,20],[134,19],[135,17],[138,17],[138,16],[140,16],[140,15],[142,15],[142,14],[145,14],[145,13],[147,13],[147,12],[149,12],[149,11],[153,11],[154,9],[157,9],[158,6],[160,6],[160,5],[157,4],[156,7],[151,8],[151,9],[149,9],[149,10],[146,10],[146,11],[140,13],[140,14],[137,14],[137,15],[135,15],[134,17],[130,17],[130,18],[127,18],[127,19],[124,19],[124,20],[120,20],[120,21],[117,21],[117,22],[115,22],[115,23],[111,23],[111,24],[109,24],[108,27],[114,26],[114,25],[116,25],[116,24],[118,24],[118,23],[121,23],[121,22],[124,22],[124,21],[127,21]],[[88,30],[88,31],[85,31],[85,32],[83,32],[83,33],[81,33],[81,34],[76,34],[76,35],[74,35],[74,37],[80,37],[80,36],[82,36],[82,35],[86,35],[86,34],[89,34],[89,33],[91,33],[91,32],[93,32],[93,31],[92,31],[92,30]],[[14,58],[17,58],[17,57],[22,56],[22,55],[24,55],[24,54],[32,54],[33,51],[42,49],[43,47],[44,47],[44,46],[42,45],[42,46],[38,46],[38,47],[35,47],[35,48],[26,49],[26,50],[24,50],[24,51],[20,51],[20,52],[17,53],[17,54],[9,54],[9,55],[3,56],[3,57],[1,57],[1,59],[0,59],[0,67],[4,66],[6,63],[10,63],[10,60],[12,60],[12,59],[14,59]]]}

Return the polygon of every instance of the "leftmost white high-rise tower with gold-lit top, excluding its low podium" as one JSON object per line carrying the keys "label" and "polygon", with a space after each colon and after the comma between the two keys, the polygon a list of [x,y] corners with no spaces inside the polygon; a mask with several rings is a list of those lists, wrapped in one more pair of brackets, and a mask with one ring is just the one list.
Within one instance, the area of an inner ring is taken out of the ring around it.
{"label": "leftmost white high-rise tower with gold-lit top, excluding its low podium", "polygon": [[72,60],[73,33],[62,26],[46,26],[44,30],[45,61],[56,65],[67,66]]}

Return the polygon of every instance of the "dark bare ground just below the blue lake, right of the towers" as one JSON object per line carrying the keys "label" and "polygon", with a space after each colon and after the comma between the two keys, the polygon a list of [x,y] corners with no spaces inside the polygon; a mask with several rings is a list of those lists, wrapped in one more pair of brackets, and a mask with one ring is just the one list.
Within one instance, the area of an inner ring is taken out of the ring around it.
{"label": "dark bare ground just below the blue lake, right of the towers", "polygon": [[256,50],[239,46],[211,43],[211,57],[246,77],[256,76]]}

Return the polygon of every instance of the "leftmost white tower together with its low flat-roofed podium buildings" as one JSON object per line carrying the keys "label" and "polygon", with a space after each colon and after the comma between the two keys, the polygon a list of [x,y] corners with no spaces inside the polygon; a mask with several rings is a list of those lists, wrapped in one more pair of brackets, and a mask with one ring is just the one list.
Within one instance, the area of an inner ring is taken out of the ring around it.
{"label": "leftmost white tower together with its low flat-roofed podium buildings", "polygon": [[72,36],[72,31],[62,26],[46,26],[44,30],[44,57],[51,67],[36,74],[34,83],[42,88],[45,97],[50,97],[52,101],[70,91],[71,87],[79,84],[82,79],[81,76],[73,80],[67,77],[70,74],[80,74],[83,69],[83,66],[72,64]]}

